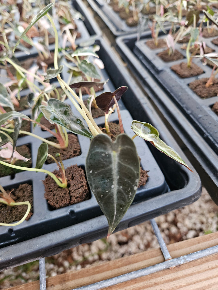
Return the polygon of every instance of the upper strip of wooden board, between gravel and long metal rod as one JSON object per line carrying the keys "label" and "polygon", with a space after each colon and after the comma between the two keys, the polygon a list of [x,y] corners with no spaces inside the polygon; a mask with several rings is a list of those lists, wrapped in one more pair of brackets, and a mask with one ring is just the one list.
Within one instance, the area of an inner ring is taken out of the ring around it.
{"label": "upper strip of wooden board, between gravel and long metal rod", "polygon": [[[177,258],[199,250],[216,246],[218,232],[205,236],[195,237],[167,246],[172,258]],[[71,290],[83,285],[92,284],[104,279],[109,279],[131,271],[142,269],[163,262],[160,248],[150,249],[132,256],[103,262],[80,270],[66,272],[46,279],[47,290]],[[30,282],[6,290],[38,290],[39,281]]]}

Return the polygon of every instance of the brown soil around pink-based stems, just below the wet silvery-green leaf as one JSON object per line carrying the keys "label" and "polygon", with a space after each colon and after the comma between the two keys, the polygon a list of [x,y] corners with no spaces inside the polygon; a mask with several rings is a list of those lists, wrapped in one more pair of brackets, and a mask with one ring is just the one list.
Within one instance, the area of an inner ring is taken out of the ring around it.
{"label": "brown soil around pink-based stems, just below the wet silvery-green leaf", "polygon": [[[47,138],[47,140],[57,143],[57,139],[55,137]],[[81,148],[77,136],[68,133],[68,141],[69,141],[68,147],[64,149],[57,149],[54,146],[48,145],[48,153],[54,157],[56,153],[60,153],[61,160],[66,160],[81,155]],[[51,157],[48,157],[46,160],[46,164],[50,163],[54,163],[54,160]]]}

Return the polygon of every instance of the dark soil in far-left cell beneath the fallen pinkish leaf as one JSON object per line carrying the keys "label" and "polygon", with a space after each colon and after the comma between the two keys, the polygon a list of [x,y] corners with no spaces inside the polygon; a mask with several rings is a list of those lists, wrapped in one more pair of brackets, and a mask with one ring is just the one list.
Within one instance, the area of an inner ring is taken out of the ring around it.
{"label": "dark soil in far-left cell beneath the fallen pinkish leaf", "polygon": [[[31,160],[31,151],[30,148],[27,145],[22,145],[16,147],[16,151],[20,153],[22,156],[26,158],[30,158],[28,161],[22,161],[22,160],[17,160],[15,162],[15,165],[17,166],[23,166],[23,167],[31,167],[32,166],[32,160]],[[5,161],[3,158],[0,157],[0,160]],[[14,176],[14,174],[21,172],[22,170],[20,169],[14,169],[5,165],[0,164],[0,177],[11,175]]]}

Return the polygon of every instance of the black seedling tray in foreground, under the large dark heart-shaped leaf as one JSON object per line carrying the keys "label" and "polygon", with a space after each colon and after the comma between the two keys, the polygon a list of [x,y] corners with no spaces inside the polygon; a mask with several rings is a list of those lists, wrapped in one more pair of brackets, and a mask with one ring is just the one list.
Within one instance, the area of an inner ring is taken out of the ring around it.
{"label": "black seedling tray in foreground, under the large dark heart-shaped leaf", "polygon": [[[134,135],[130,129],[130,113],[132,118],[136,120],[153,124],[160,131],[160,137],[187,161],[148,99],[137,87],[120,60],[114,56],[114,52],[110,50],[104,41],[97,40],[96,43],[101,47],[98,55],[105,66],[102,76],[104,79],[110,78],[104,90],[110,89],[113,91],[113,89],[121,85],[128,86],[128,90],[122,100],[124,105],[121,104],[121,114],[124,117],[124,130],[126,133],[130,136]],[[125,108],[128,109],[129,113]],[[25,114],[27,114],[27,111],[25,111]],[[113,120],[117,120],[116,113],[111,116],[111,121]],[[98,118],[97,123],[104,124],[104,118]],[[47,132],[40,131],[40,134],[45,137]],[[82,145],[81,155],[65,160],[65,166],[77,163],[84,167],[85,153],[89,146],[89,141],[80,136],[78,136],[78,139]],[[85,142],[83,143],[84,139]],[[144,169],[150,170],[149,180],[144,188],[138,190],[133,204],[128,209],[116,231],[188,205],[197,200],[201,193],[201,182],[195,171],[194,173],[190,172],[187,168],[160,153],[150,143],[145,143],[139,137],[134,140],[137,143],[138,153],[141,157],[141,165]],[[22,137],[19,142],[24,144],[30,141],[28,141],[28,137]],[[37,141],[32,142],[33,160],[35,160],[35,151],[37,149]],[[54,168],[52,164],[44,166],[47,169]],[[28,176],[26,172],[21,172],[16,174],[13,180],[10,177],[0,179],[3,187],[12,187],[13,184],[28,181],[33,184],[34,188],[37,187],[39,189],[38,195],[34,196],[34,214],[29,221],[24,221],[23,224],[17,227],[0,227],[2,242],[0,270],[40,257],[51,256],[65,249],[81,243],[91,242],[107,235],[107,219],[101,214],[92,194],[91,199],[87,201],[49,211],[44,198],[43,185],[39,184],[39,181],[44,178],[45,175],[39,172],[32,173],[31,176]],[[37,224],[36,227],[33,226],[34,222]],[[22,230],[25,231],[25,237],[21,238],[20,231],[22,227]],[[8,237],[7,241],[6,236]]]}

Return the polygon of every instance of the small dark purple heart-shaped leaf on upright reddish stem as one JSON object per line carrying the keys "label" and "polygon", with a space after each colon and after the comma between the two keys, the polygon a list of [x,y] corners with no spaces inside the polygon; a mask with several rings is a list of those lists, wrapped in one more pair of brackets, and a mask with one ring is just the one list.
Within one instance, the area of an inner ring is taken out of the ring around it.
{"label": "small dark purple heart-shaped leaf on upright reddish stem", "polygon": [[97,103],[98,108],[100,108],[102,111],[108,114],[109,109],[113,107],[113,105],[115,104],[113,96],[115,96],[117,101],[119,101],[127,89],[128,87],[122,86],[116,89],[116,91],[114,91],[113,93],[105,92],[97,96],[95,98],[95,101]]}

